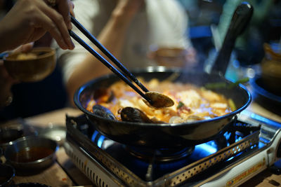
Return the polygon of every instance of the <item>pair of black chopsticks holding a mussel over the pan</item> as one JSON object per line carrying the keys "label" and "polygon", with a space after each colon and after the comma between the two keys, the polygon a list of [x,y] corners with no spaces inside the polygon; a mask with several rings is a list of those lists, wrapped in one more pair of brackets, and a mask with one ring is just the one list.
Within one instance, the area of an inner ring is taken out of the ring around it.
{"label": "pair of black chopsticks holding a mussel over the pan", "polygon": [[[71,22],[73,23],[73,25],[75,25],[75,27],[77,27],[77,29],[79,29],[91,42],[93,42],[93,44],[95,44],[95,46],[100,49],[101,52],[103,52],[110,60],[112,60],[112,62],[114,62],[117,67],[119,67],[119,69],[121,69],[122,71],[124,71],[124,73],[126,74],[126,76],[129,76],[129,78],[131,78],[132,81],[134,81],[136,83],[136,85],[138,85],[144,92],[148,92],[148,89],[145,88],[145,86],[143,84],[141,84],[140,81],[138,81],[138,79],[133,76],[133,74],[131,74],[131,72],[126,69],[126,67],[124,67],[124,65],[119,62],[87,29],[85,29],[74,17],[71,16]],[[115,67],[112,66],[112,64],[110,64],[110,62],[107,62],[107,60],[105,60],[104,57],[102,57],[100,54],[98,54],[98,52],[96,52],[96,50],[94,50],[93,48],[91,48],[91,46],[89,46],[85,41],[83,41],[77,34],[75,34],[74,32],[72,32],[71,30],[69,31],[70,36],[72,36],[72,38],[74,40],[76,40],[81,46],[83,46],[86,50],[88,50],[93,56],[95,56],[98,60],[100,60],[100,62],[102,62],[107,68],[109,68],[113,73],[115,73],[117,76],[119,76],[119,78],[122,78],[122,80],[127,83],[129,86],[131,86],[131,88],[133,88],[133,90],[135,90],[136,92],[138,92],[139,95],[141,95],[144,99],[146,99],[148,102],[152,103],[152,101],[145,95],[143,94],[143,92],[141,90],[139,90],[135,85],[133,85],[133,83],[131,83],[131,81],[126,78],[126,76],[124,76],[120,71],[118,71]]]}

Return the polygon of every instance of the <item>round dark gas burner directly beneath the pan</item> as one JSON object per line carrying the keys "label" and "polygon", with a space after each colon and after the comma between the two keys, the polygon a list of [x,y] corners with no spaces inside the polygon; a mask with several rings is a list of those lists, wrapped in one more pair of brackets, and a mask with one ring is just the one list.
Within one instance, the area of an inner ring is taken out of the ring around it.
{"label": "round dark gas burner directly beneath the pan", "polygon": [[185,148],[140,148],[126,146],[126,150],[136,158],[152,162],[169,162],[188,157],[194,151],[194,146]]}

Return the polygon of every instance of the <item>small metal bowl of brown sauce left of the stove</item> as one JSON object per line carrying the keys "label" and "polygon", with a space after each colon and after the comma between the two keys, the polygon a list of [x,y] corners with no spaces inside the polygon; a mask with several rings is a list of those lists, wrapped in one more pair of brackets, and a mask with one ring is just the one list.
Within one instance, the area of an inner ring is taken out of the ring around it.
{"label": "small metal bowl of brown sauce left of the stove", "polygon": [[55,160],[58,144],[52,139],[30,136],[13,141],[4,152],[7,162],[15,170],[44,169]]}

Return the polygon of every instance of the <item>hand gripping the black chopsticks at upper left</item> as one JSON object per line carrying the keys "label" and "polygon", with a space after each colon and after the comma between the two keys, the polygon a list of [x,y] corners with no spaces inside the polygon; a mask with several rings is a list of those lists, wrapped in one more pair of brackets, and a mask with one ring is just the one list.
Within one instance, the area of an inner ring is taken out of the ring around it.
{"label": "hand gripping the black chopsticks at upper left", "polygon": [[74,6],[70,0],[57,0],[56,8],[58,11],[42,0],[18,0],[1,20],[1,43],[5,43],[5,50],[37,41],[46,32],[53,36],[60,48],[73,49],[67,29],[71,29],[70,13]]}

